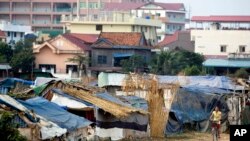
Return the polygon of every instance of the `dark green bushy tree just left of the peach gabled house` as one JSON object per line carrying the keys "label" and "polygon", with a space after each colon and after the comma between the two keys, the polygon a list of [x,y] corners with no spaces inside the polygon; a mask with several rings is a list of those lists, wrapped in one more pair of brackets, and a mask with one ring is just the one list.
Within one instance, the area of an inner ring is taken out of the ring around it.
{"label": "dark green bushy tree just left of the peach gabled house", "polygon": [[32,70],[35,62],[35,56],[32,50],[32,41],[19,41],[14,46],[14,55],[11,58],[10,65],[14,71],[19,69],[22,72],[29,72]]}

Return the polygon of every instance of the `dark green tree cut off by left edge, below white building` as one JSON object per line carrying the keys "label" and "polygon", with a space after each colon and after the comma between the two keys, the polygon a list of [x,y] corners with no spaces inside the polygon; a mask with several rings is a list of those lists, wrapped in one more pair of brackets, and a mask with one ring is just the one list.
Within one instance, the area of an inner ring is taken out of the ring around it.
{"label": "dark green tree cut off by left edge, below white building", "polygon": [[0,42],[0,63],[9,63],[13,50],[6,43]]}

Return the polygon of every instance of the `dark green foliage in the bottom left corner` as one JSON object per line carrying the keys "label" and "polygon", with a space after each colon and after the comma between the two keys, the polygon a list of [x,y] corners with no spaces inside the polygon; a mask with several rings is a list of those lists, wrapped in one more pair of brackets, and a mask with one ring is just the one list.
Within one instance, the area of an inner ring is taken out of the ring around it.
{"label": "dark green foliage in the bottom left corner", "polygon": [[17,125],[12,123],[12,115],[3,112],[0,118],[0,139],[3,141],[26,141],[17,130]]}

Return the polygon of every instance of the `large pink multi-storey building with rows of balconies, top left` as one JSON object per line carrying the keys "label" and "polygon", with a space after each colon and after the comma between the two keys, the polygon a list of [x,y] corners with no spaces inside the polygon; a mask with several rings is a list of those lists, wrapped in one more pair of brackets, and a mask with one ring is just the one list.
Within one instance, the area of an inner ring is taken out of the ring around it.
{"label": "large pink multi-storey building with rows of balconies, top left", "polygon": [[[97,14],[105,3],[150,2],[153,0],[1,0],[0,20],[13,24],[31,25],[32,30],[62,29],[61,15]],[[87,8],[88,7],[88,8]]]}

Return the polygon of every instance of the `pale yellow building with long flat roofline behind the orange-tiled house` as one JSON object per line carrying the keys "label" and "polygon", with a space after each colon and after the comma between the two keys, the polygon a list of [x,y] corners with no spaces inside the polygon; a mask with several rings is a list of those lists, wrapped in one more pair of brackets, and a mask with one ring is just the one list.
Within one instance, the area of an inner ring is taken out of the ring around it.
{"label": "pale yellow building with long flat roofline behind the orange-tiled house", "polygon": [[72,18],[62,16],[62,23],[71,33],[100,34],[101,32],[143,32],[147,42],[157,44],[157,19],[137,18],[128,12],[102,12],[95,16]]}

